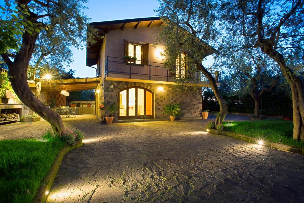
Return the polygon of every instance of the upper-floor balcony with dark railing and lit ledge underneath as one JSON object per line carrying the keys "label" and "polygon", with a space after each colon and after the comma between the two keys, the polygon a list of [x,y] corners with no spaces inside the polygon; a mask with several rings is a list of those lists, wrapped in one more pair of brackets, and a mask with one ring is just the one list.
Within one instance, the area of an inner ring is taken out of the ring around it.
{"label": "upper-floor balcony with dark railing and lit ledge underneath", "polygon": [[[182,72],[183,70],[181,70]],[[220,81],[219,72],[218,81]],[[214,71],[212,72],[215,77]],[[126,63],[123,58],[107,57],[105,61],[105,79],[113,81],[150,82],[174,84],[176,72],[171,73],[164,64],[149,61],[148,65]],[[201,72],[196,72],[191,82],[193,85],[209,86],[209,81]],[[219,85],[219,84],[218,84]]]}

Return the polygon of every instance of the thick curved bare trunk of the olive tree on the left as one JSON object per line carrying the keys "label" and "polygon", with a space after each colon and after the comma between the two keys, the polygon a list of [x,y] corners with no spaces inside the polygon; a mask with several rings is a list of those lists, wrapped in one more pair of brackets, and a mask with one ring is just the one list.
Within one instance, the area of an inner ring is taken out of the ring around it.
{"label": "thick curved bare trunk of the olive tree on the left", "polygon": [[[6,63],[9,67],[10,81],[12,88],[19,99],[31,110],[36,112],[43,119],[48,121],[55,135],[60,135],[64,130],[64,124],[62,118],[55,111],[45,106],[31,91],[27,83],[27,68],[29,60],[33,54],[35,42],[38,37],[37,32],[33,32],[32,35],[25,32],[22,35],[22,46],[13,62]],[[4,55],[4,54],[3,54]],[[2,56],[3,57],[3,56]]]}

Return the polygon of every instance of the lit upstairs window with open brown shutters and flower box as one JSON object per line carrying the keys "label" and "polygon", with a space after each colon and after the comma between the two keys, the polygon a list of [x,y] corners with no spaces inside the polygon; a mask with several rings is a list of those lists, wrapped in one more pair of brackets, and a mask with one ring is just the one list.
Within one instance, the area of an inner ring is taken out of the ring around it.
{"label": "lit upstairs window with open brown shutters and flower box", "polygon": [[[135,64],[148,65],[149,62],[149,43],[138,44],[124,40],[124,56],[136,57]],[[134,63],[133,61],[127,61]]]}

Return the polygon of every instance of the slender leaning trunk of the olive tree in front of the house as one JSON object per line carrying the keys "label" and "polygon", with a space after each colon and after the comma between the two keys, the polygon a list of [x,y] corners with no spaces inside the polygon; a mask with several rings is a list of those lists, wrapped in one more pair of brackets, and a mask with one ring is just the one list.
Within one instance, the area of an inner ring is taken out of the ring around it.
{"label": "slender leaning trunk of the olive tree in front of the house", "polygon": [[199,68],[200,71],[207,77],[210,83],[210,87],[219,103],[219,114],[217,115],[215,119],[215,124],[221,124],[227,114],[227,104],[226,101],[224,100],[222,94],[219,91],[219,88],[216,85],[215,79],[212,77],[211,73],[207,71],[207,69],[202,65],[202,63],[197,63],[197,67]]}

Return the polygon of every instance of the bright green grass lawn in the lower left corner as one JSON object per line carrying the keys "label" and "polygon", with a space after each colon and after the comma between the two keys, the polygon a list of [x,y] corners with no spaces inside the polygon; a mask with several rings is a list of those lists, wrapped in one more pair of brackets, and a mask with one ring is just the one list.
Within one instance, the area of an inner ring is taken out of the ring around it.
{"label": "bright green grass lawn in the lower left corner", "polygon": [[65,143],[36,139],[0,141],[0,202],[32,202]]}

